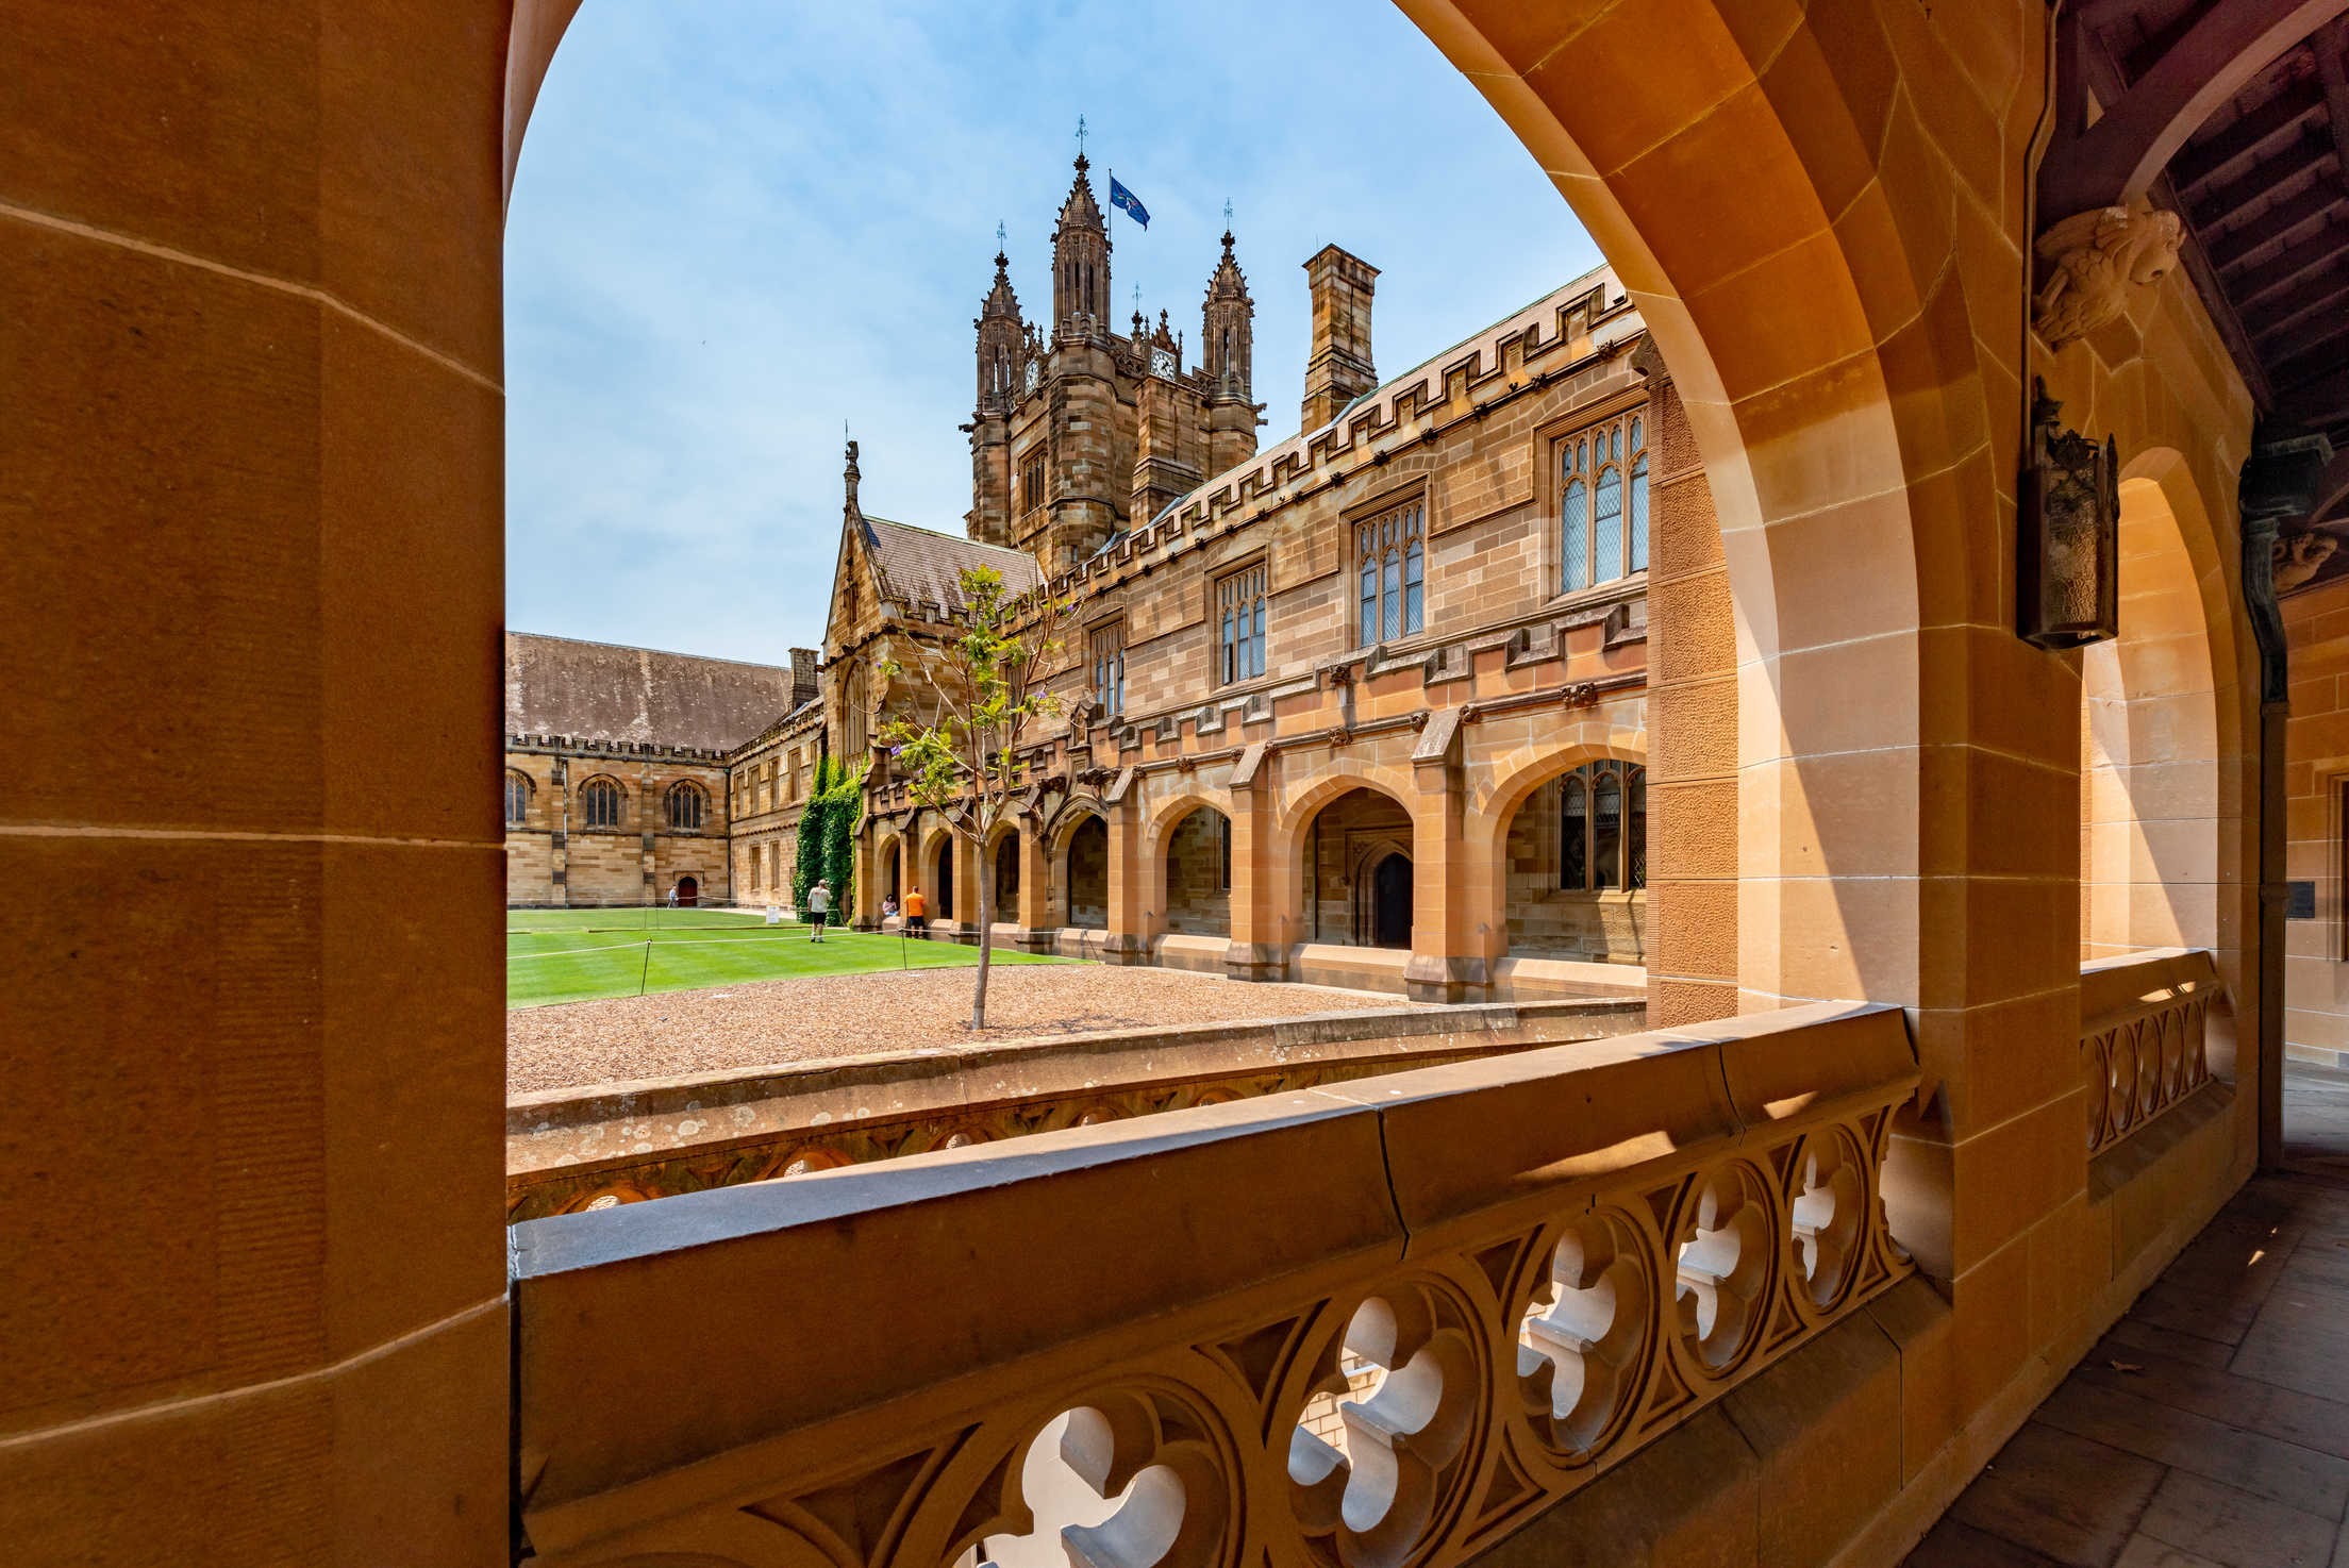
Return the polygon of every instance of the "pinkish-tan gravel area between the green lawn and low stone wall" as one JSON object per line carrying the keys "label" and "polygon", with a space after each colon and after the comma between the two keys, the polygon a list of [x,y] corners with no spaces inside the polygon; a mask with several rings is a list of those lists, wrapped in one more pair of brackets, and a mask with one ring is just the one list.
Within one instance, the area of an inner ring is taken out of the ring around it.
{"label": "pinkish-tan gravel area between the green lawn and low stone wall", "polygon": [[517,1007],[505,1014],[507,1094],[817,1056],[991,1045],[1099,1028],[1238,1023],[1400,995],[1325,986],[1240,986],[1182,969],[1001,967],[987,979],[987,1030],[970,1030],[970,969],[756,981],[721,991]]}

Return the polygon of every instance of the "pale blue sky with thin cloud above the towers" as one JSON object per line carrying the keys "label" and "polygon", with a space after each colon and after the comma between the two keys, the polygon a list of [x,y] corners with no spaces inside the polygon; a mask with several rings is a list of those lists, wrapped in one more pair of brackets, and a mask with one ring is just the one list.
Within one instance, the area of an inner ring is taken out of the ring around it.
{"label": "pale blue sky with thin cloud above the towers", "polygon": [[590,0],[505,230],[507,622],[785,662],[822,636],[841,420],[876,516],[961,530],[970,322],[1008,228],[1050,307],[1076,117],[1149,204],[1132,289],[1198,338],[1233,204],[1259,437],[1297,430],[1304,261],[1381,268],[1398,373],[1597,265],[1534,160],[1386,5]]}

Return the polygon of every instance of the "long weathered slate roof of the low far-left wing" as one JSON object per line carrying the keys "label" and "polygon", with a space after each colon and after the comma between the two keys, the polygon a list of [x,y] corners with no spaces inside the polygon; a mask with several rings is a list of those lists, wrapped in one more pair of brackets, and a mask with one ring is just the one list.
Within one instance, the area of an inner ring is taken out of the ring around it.
{"label": "long weathered slate roof of the low far-left wing", "polygon": [[792,671],[505,634],[505,732],[726,751],[792,707]]}

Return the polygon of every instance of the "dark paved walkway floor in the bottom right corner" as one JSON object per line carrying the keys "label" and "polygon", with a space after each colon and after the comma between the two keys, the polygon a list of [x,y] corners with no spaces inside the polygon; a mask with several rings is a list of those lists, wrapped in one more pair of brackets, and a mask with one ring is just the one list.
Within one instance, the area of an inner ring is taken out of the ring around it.
{"label": "dark paved walkway floor in the bottom right corner", "polygon": [[2349,1073],[2283,1131],[1910,1568],[2349,1568]]}

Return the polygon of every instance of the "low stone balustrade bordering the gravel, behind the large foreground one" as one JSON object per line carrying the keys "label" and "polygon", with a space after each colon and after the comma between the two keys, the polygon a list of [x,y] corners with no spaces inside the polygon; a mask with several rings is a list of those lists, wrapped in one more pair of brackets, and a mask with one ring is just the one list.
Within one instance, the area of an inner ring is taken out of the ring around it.
{"label": "low stone balustrade bordering the gravel, behind the large foreground one", "polygon": [[702,1192],[1637,1033],[1640,998],[1377,1007],[834,1056],[517,1094],[505,1216]]}

